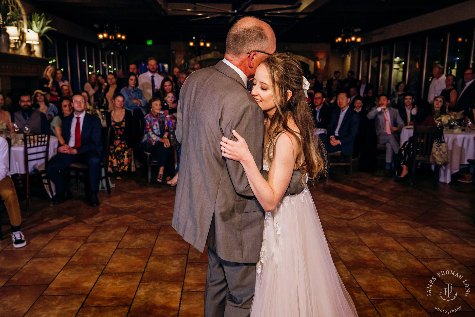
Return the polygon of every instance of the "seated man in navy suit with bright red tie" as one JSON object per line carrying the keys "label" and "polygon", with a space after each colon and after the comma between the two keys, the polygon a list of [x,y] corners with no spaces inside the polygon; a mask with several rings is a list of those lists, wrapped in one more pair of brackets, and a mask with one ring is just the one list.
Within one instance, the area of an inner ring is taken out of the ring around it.
{"label": "seated man in navy suit with bright red tie", "polygon": [[85,112],[86,100],[82,95],[73,96],[74,113],[65,117],[61,133],[66,142],[58,148],[58,153],[46,162],[46,174],[56,186],[53,204],[61,204],[73,198],[61,171],[74,162],[81,162],[89,168],[89,188],[91,207],[99,206],[97,192],[101,178],[101,161],[104,148],[101,144],[101,120]]}

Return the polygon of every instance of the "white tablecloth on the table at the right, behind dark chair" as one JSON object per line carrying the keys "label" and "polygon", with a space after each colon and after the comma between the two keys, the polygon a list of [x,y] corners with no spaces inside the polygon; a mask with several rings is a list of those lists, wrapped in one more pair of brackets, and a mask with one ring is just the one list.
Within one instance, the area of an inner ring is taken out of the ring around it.
{"label": "white tablecloth on the table at the right, behind dark chair", "polygon": [[[409,129],[408,129],[409,128]],[[401,144],[414,134],[412,127],[404,127],[401,131]],[[449,162],[440,168],[439,181],[450,183],[452,174],[460,170],[460,164],[468,164],[467,159],[475,158],[475,131],[468,130],[455,133],[455,130],[444,129],[444,138],[448,147]]]}

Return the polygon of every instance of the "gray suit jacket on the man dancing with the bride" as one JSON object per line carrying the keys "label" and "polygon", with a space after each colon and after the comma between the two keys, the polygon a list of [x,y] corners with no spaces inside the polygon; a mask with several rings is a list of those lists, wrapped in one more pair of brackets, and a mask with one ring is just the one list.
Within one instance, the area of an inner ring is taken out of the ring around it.
{"label": "gray suit jacket on the man dancing with the bride", "polygon": [[[223,158],[219,142],[223,135],[236,140],[235,129],[262,169],[262,109],[237,72],[220,61],[186,79],[177,120],[181,157],[173,228],[201,252],[207,244],[226,261],[257,262],[265,213],[241,164]],[[266,172],[261,173],[266,178]],[[303,191],[301,175],[294,172],[287,193]]]}

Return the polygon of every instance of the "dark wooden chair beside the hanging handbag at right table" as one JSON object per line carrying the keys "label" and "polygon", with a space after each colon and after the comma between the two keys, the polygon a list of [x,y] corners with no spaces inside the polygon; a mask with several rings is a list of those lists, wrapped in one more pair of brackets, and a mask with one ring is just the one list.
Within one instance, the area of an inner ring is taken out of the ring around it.
{"label": "dark wooden chair beside the hanging handbag at right table", "polygon": [[[428,163],[430,161],[430,153],[432,152],[432,146],[434,141],[438,137],[437,127],[428,127],[428,126],[414,126],[414,153],[412,155],[412,161],[410,162],[410,175],[409,175],[409,184],[414,184],[414,177],[416,172],[416,165],[420,163]],[[434,186],[437,186],[439,181],[439,170],[440,166],[435,166],[434,169]]]}

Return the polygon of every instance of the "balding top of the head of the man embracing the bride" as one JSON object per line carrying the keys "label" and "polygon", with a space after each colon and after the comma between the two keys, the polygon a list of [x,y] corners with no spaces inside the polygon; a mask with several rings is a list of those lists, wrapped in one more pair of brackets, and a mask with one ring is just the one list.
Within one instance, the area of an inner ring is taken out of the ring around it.
{"label": "balding top of the head of the man embracing the bride", "polygon": [[226,38],[226,55],[234,58],[252,50],[273,53],[276,50],[276,35],[266,22],[244,17],[231,27]]}

